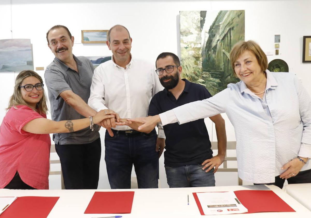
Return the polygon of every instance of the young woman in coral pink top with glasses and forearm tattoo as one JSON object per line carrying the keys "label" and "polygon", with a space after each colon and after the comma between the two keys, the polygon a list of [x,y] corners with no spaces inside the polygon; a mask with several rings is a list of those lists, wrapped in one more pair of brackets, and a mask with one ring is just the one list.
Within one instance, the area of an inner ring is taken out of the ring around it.
{"label": "young woman in coral pink top with glasses and forearm tattoo", "polygon": [[49,188],[49,133],[92,128],[93,124],[114,117],[113,112],[103,110],[79,120],[46,119],[43,81],[31,70],[16,77],[7,110],[0,126],[0,188],[12,189]]}

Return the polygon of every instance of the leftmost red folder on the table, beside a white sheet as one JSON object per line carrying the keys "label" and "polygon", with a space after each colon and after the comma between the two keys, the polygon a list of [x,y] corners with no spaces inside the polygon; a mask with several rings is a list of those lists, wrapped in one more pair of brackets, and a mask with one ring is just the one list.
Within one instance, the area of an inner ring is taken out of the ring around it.
{"label": "leftmost red folder on the table, beside a white sheet", "polygon": [[18,197],[3,213],[1,218],[46,218],[59,197]]}

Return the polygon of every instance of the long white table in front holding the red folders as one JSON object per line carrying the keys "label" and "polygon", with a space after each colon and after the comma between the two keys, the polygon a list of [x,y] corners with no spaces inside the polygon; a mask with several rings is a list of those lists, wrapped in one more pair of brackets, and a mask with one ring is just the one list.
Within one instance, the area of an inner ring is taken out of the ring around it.
{"label": "long white table in front holding the red folders", "polygon": [[[276,186],[268,186],[279,197],[297,212],[270,212],[270,213],[251,213],[251,214],[232,214],[221,216],[208,216],[218,218],[248,218],[248,217],[280,217],[293,218],[311,215],[311,211],[302,206],[294,198]],[[198,187],[198,188],[159,188],[159,189],[115,189],[115,190],[16,190],[0,189],[0,196],[52,196],[60,197],[50,212],[48,218],[91,218],[102,216],[114,216],[114,214],[84,214],[95,191],[135,191],[132,212],[122,215],[123,218],[174,218],[190,217],[204,218],[201,216],[192,192],[219,192],[248,190],[243,186],[218,186],[218,187]],[[189,195],[189,205],[187,205],[187,195]],[[310,216],[309,216],[310,217]]]}

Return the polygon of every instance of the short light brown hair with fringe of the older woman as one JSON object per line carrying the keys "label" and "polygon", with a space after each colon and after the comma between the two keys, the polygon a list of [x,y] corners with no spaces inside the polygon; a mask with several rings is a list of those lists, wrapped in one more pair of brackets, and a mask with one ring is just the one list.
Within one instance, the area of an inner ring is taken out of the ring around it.
{"label": "short light brown hair with fringe of the older woman", "polygon": [[260,48],[260,46],[252,40],[248,40],[246,42],[240,41],[233,46],[230,52],[230,61],[231,61],[231,66],[232,66],[234,75],[236,75],[234,71],[234,62],[239,58],[240,55],[244,53],[244,51],[252,52],[256,56],[256,59],[258,61],[258,64],[261,70],[262,71],[267,70],[268,59],[267,59],[266,54]]}

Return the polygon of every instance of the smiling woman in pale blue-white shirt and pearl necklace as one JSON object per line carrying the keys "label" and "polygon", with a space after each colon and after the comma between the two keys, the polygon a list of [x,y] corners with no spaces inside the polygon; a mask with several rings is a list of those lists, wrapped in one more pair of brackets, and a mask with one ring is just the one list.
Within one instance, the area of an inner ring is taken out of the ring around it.
{"label": "smiling woman in pale blue-white shirt and pearl necklace", "polygon": [[285,179],[311,182],[311,99],[301,82],[292,73],[267,71],[267,57],[254,41],[234,45],[230,61],[240,82],[208,99],[129,121],[143,123],[139,130],[148,132],[160,121],[183,124],[226,112],[241,179],[278,187]]}

